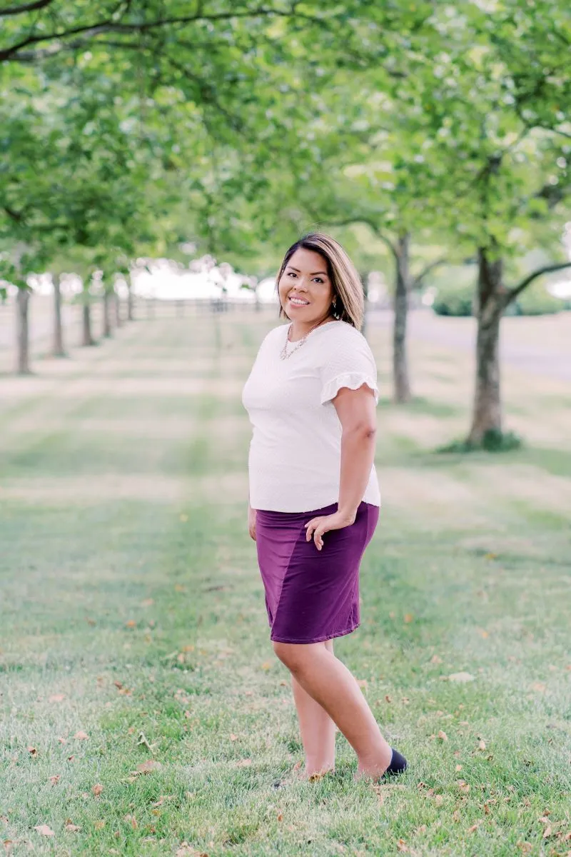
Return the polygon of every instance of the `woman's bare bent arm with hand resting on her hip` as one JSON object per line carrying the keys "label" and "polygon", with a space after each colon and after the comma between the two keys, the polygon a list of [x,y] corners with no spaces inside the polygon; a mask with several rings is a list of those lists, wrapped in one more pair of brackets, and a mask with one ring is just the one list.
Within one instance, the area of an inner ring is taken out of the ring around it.
{"label": "woman's bare bent arm with hand resting on her hip", "polygon": [[375,458],[377,415],[371,387],[342,387],[332,402],[342,426],[339,502],[334,514],[306,524],[306,540],[313,538],[318,550],[323,548],[324,533],[354,524]]}

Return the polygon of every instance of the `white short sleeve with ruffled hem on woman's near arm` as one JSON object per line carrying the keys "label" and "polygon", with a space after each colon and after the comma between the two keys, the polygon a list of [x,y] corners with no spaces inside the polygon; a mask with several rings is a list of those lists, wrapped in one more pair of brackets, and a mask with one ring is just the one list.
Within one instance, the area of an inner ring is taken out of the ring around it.
{"label": "white short sleeve with ruffled hem on woman's near arm", "polygon": [[365,337],[358,331],[330,344],[321,369],[321,404],[335,399],[342,387],[370,387],[378,405],[377,366]]}

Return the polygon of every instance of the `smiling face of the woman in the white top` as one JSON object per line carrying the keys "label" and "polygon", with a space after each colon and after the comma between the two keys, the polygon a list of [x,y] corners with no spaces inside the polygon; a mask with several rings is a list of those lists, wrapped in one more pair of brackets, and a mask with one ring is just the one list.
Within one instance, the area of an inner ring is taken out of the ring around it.
{"label": "smiling face of the woman in the white top", "polygon": [[283,310],[292,321],[311,326],[330,315],[334,294],[327,262],[313,250],[295,250],[277,289]]}

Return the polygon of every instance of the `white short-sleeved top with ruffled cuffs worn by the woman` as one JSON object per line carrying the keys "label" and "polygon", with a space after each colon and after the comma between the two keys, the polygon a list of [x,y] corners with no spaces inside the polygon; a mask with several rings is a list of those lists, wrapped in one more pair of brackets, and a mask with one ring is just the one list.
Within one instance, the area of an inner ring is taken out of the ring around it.
{"label": "white short-sleeved top with ruffled cuffs worn by the woman", "polygon": [[[341,387],[366,384],[378,403],[377,367],[365,337],[346,321],[317,327],[282,360],[288,327],[267,334],[242,392],[253,427],[250,505],[310,512],[339,500],[342,426],[331,399]],[[374,465],[363,500],[381,505]]]}

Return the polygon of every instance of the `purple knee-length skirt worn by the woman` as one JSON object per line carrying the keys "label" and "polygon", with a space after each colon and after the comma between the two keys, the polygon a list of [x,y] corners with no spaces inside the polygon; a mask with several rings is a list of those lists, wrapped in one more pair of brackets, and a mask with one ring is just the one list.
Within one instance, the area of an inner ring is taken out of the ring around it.
{"label": "purple knee-length skirt worn by the woman", "polygon": [[336,511],[336,503],[313,512],[258,510],[258,563],[276,642],[319,643],[360,624],[359,566],[379,509],[363,501],[354,524],[325,533],[318,550],[313,540],[306,541],[304,524]]}

